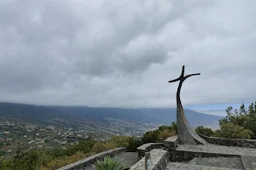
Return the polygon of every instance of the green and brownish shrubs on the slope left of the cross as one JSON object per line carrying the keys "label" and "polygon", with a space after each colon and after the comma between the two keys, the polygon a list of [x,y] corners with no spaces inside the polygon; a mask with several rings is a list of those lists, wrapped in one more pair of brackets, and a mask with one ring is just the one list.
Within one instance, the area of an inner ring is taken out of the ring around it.
{"label": "green and brownish shrubs on the slope left of the cross", "polygon": [[137,147],[148,141],[163,141],[177,132],[177,123],[172,126],[162,126],[159,129],[147,132],[142,138],[128,136],[113,136],[105,142],[95,141],[92,138],[80,140],[79,144],[67,148],[56,147],[53,150],[17,150],[16,155],[8,160],[0,159],[0,169],[3,170],[49,170],[63,167],[96,153],[126,147],[128,151],[136,151]]}

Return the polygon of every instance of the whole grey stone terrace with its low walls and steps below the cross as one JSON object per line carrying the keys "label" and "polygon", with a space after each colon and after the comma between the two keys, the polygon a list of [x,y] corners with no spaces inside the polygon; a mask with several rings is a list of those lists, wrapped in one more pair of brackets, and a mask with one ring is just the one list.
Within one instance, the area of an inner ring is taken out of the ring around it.
{"label": "whole grey stone terrace with its low walls and steps below the cross", "polygon": [[[125,168],[145,169],[145,152],[150,152],[148,170],[207,169],[207,170],[256,170],[256,148],[242,148],[217,144],[176,144],[177,136],[165,143],[148,143],[137,148],[137,152],[125,152],[123,148],[107,150],[84,160],[61,167],[59,170],[93,170],[97,159],[111,156],[123,161]],[[142,159],[139,159],[139,156]]]}

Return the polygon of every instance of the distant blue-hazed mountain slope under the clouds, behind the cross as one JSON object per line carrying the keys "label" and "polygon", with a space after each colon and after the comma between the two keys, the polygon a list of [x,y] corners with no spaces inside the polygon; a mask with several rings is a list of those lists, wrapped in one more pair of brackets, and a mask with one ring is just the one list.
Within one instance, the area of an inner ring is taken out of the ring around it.
{"label": "distant blue-hazed mountain slope under the clouds, behind the cross", "polygon": [[[185,110],[192,126],[218,127],[220,116],[202,114],[197,111]],[[14,103],[0,103],[1,120],[37,122],[44,124],[74,126],[78,123],[108,123],[104,118],[126,122],[154,122],[170,124],[176,121],[176,109],[127,109],[101,108],[87,106],[39,106]]]}

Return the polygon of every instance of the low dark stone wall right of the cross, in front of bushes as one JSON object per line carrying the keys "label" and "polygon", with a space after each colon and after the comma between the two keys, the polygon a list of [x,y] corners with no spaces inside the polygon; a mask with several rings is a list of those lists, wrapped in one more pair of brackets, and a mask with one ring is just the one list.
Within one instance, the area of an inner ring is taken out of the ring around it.
{"label": "low dark stone wall right of the cross, in front of bushes", "polygon": [[236,147],[243,147],[243,148],[256,148],[255,139],[225,139],[225,138],[208,137],[201,133],[197,133],[197,134],[202,139],[207,140],[207,142],[210,144],[236,146]]}

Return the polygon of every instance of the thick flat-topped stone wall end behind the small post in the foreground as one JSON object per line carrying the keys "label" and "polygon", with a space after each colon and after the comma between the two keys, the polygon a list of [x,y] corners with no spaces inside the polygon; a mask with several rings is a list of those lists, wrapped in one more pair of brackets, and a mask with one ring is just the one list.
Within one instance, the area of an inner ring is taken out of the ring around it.
{"label": "thick flat-topped stone wall end behind the small post in the foreground", "polygon": [[[168,154],[166,150],[154,149],[150,151],[148,170],[164,169],[168,163]],[[145,169],[145,157],[130,167],[131,170],[144,170]]]}

